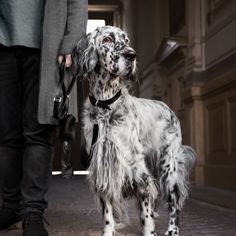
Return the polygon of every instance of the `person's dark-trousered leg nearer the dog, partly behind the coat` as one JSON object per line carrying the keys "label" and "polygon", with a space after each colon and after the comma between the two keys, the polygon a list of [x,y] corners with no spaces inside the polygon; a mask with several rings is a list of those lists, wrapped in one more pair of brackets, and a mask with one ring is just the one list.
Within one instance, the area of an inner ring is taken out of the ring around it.
{"label": "person's dark-trousered leg nearer the dog, partly behind the coat", "polygon": [[23,90],[23,214],[32,211],[43,213],[47,207],[45,194],[49,187],[52,171],[51,125],[38,122],[40,50],[19,47],[17,58]]}

